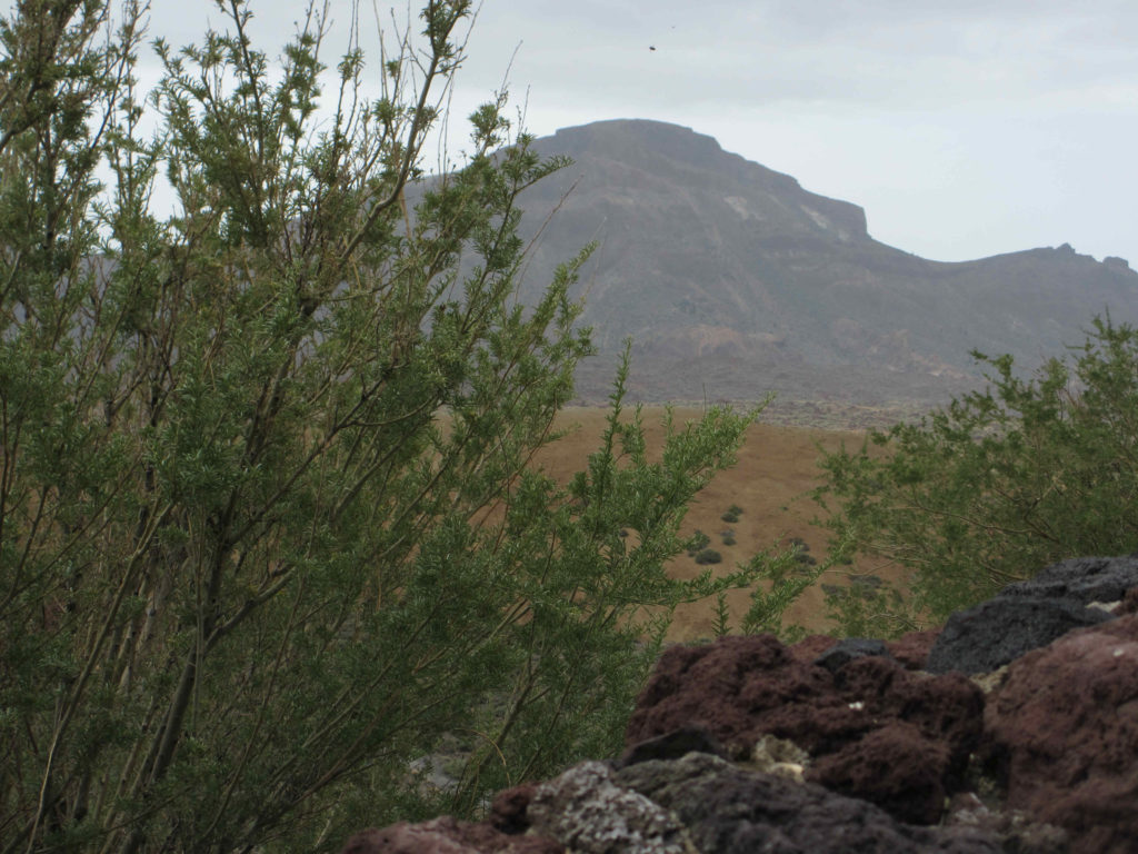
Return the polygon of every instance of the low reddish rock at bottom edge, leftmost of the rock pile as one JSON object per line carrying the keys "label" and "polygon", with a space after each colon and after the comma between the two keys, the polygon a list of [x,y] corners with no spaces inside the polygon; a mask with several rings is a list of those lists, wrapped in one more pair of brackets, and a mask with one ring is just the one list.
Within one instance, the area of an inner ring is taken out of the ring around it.
{"label": "low reddish rock at bottom edge, leftmost of the rock pile", "polygon": [[564,846],[542,836],[506,836],[489,824],[450,816],[420,824],[399,822],[353,836],[341,854],[563,854]]}

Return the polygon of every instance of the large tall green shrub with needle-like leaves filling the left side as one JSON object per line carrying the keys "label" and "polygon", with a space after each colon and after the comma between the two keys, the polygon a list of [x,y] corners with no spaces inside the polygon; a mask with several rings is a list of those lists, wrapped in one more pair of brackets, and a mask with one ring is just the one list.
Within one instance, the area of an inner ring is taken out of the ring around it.
{"label": "large tall green shrub with needle-like leaves filling the left side", "polygon": [[[753,413],[653,461],[621,373],[587,470],[530,466],[589,353],[587,249],[516,301],[518,196],[563,162],[496,99],[468,164],[405,192],[470,3],[429,0],[374,99],[349,50],[331,113],[319,6],[275,66],[218,7],[147,93],[131,3],[0,23],[2,854],[329,851],[476,813],[611,753],[670,609],[754,574],[662,570]],[[456,786],[423,788],[455,739]]]}

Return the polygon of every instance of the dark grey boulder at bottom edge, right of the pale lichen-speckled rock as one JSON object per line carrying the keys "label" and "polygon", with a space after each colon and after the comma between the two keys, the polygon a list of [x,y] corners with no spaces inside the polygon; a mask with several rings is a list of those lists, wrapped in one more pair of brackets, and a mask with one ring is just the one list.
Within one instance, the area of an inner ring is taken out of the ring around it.
{"label": "dark grey boulder at bottom edge, right of the pale lichen-speckled rock", "polygon": [[1001,851],[990,834],[980,830],[905,824],[863,800],[745,771],[708,754],[630,765],[616,772],[613,781],[676,815],[702,854]]}

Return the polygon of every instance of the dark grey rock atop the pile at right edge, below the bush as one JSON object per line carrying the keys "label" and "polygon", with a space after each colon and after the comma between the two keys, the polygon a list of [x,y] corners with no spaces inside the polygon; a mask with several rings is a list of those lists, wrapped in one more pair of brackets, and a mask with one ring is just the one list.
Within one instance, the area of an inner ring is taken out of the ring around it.
{"label": "dark grey rock atop the pile at right edge, below the bush", "polygon": [[987,673],[1070,631],[1113,615],[1092,602],[1113,602],[1138,586],[1138,558],[1075,558],[1009,584],[974,608],[957,611],[937,638],[930,673]]}

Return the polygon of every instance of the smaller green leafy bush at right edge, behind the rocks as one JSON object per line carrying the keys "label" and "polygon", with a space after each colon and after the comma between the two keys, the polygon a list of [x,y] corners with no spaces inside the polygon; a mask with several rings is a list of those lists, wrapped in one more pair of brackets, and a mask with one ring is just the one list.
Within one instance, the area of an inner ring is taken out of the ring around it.
{"label": "smaller green leafy bush at right edge, behind the rocks", "polygon": [[975,356],[989,386],[823,460],[827,522],[853,553],[908,567],[899,632],[1069,557],[1138,549],[1138,331],[1096,319],[1032,378]]}

